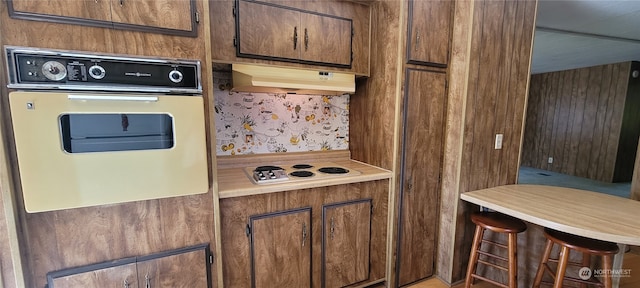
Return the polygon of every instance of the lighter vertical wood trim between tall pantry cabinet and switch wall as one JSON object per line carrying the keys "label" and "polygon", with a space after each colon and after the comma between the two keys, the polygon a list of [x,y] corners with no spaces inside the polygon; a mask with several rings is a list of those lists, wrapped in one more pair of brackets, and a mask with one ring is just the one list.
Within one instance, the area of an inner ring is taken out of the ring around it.
{"label": "lighter vertical wood trim between tall pantry cabinet and switch wall", "polygon": [[461,186],[464,126],[469,88],[471,36],[475,1],[455,1],[449,59],[446,129],[441,184],[441,206],[436,257],[436,275],[453,283],[456,218]]}

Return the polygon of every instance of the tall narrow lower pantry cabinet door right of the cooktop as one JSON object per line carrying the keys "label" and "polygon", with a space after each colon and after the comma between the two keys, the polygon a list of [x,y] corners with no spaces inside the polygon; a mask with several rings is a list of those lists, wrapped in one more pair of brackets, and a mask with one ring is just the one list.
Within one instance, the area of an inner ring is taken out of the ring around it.
{"label": "tall narrow lower pantry cabinet door right of the cooktop", "polygon": [[405,77],[399,286],[433,274],[446,104],[444,72],[407,69]]}

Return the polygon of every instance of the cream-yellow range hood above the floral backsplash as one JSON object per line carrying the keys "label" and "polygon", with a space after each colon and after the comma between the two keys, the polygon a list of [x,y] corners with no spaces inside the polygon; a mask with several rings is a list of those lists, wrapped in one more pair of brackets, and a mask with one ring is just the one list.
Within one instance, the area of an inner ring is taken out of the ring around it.
{"label": "cream-yellow range hood above the floral backsplash", "polygon": [[232,65],[233,89],[238,92],[343,95],[356,91],[355,75],[320,70]]}

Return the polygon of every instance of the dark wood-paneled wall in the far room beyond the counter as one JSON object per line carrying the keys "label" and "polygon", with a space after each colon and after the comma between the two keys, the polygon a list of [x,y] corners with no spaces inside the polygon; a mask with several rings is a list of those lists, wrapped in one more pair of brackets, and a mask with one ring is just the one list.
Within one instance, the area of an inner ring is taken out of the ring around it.
{"label": "dark wood-paneled wall in the far room beyond the counter", "polygon": [[532,75],[522,165],[612,182],[630,64]]}

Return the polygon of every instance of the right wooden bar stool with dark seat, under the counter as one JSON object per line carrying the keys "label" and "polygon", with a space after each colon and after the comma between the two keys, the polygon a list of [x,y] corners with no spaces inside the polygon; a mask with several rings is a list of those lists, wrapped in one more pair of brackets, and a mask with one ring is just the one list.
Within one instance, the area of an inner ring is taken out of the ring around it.
{"label": "right wooden bar stool with dark seat, under the counter", "polygon": [[[596,280],[591,275],[591,270],[587,271],[590,278],[584,280],[581,278],[574,278],[566,276],[566,270],[568,266],[576,267],[589,267],[591,265],[591,255],[602,256],[602,268],[604,271],[611,271],[613,267],[613,256],[618,253],[618,245],[611,242],[600,241],[590,238],[585,238],[577,235],[567,234],[560,231],[555,231],[549,228],[544,229],[544,236],[547,238],[547,245],[544,249],[544,255],[538,266],[538,272],[536,273],[536,279],[533,282],[533,287],[538,288],[542,283],[542,277],[544,272],[549,272],[554,279],[553,287],[562,287],[563,281],[579,283],[580,287],[587,287],[587,285],[595,285],[597,287],[611,288],[611,277],[604,274],[603,281]],[[560,245],[560,254],[558,259],[551,258],[551,250],[553,245]],[[574,263],[569,262],[569,253],[571,250],[582,253],[582,262]],[[549,266],[549,262],[555,262],[558,267],[554,273],[553,269]],[[583,273],[583,271],[580,271]],[[579,275],[580,276],[580,275]]]}

